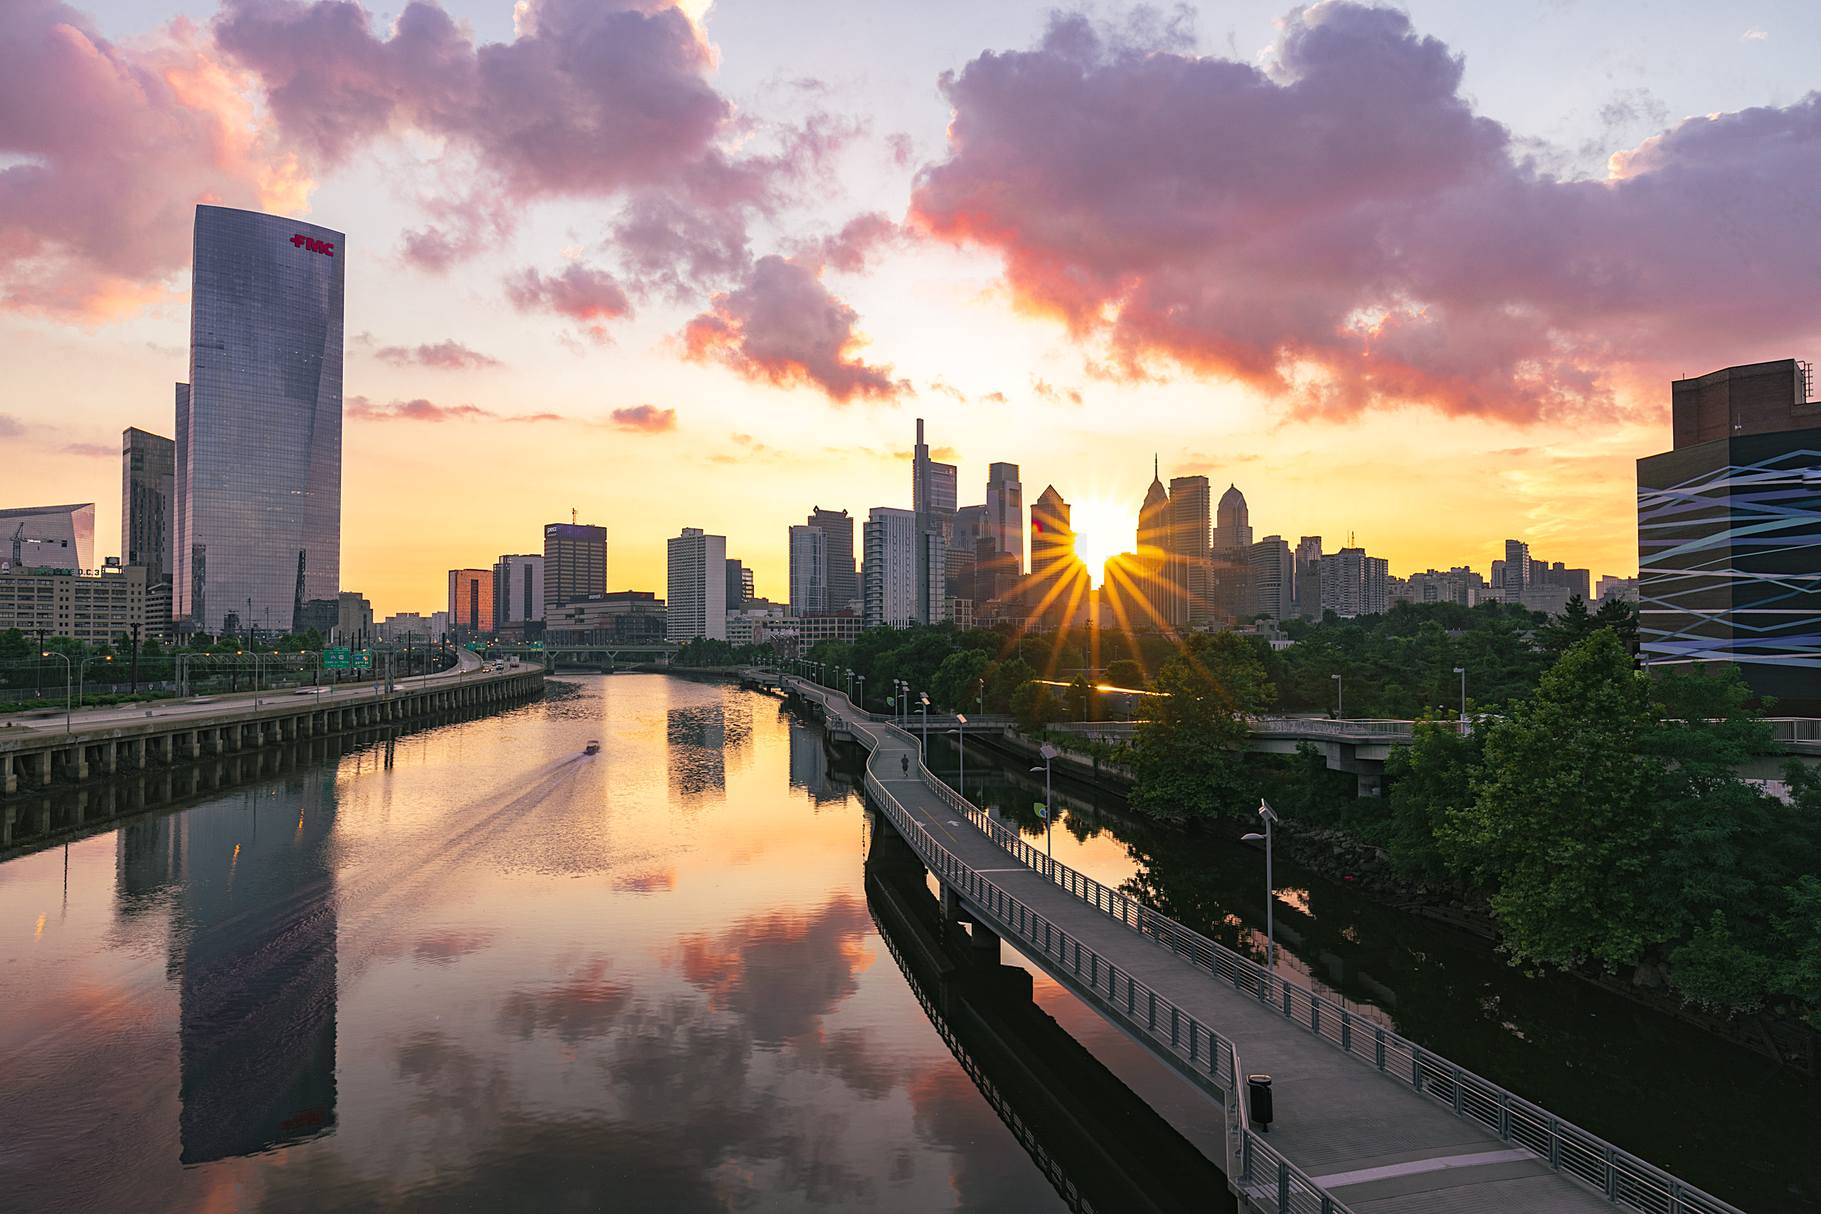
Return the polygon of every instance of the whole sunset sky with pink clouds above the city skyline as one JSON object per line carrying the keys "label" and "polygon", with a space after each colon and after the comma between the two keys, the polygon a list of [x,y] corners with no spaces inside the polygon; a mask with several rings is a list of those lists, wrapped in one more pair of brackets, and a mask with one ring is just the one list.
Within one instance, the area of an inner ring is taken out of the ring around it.
{"label": "whole sunset sky with pink clouds above the city skyline", "polygon": [[910,504],[914,419],[1391,572],[1637,568],[1668,380],[1816,351],[1810,4],[0,0],[5,506],[171,433],[197,202],[348,235],[342,586]]}

